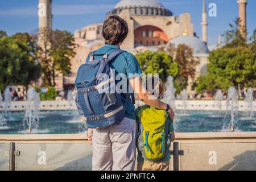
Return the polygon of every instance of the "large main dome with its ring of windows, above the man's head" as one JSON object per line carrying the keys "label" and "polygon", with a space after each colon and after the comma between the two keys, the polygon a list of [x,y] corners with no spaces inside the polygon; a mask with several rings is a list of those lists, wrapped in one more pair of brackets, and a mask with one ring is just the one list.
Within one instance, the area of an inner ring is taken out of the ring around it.
{"label": "large main dome with its ring of windows, above the man's head", "polygon": [[131,15],[172,16],[158,0],[121,0],[107,15],[118,15],[124,9],[129,9]]}

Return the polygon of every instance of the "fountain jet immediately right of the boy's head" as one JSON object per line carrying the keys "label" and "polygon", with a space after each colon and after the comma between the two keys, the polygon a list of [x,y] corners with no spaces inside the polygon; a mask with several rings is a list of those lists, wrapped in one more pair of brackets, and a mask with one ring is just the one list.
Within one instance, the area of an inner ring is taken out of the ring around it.
{"label": "fountain jet immediately right of the boy's head", "polygon": [[166,101],[168,104],[170,104],[174,111],[176,110],[175,92],[176,92],[176,89],[174,88],[174,77],[168,76],[167,82],[166,82],[166,93],[164,93],[163,100]]}

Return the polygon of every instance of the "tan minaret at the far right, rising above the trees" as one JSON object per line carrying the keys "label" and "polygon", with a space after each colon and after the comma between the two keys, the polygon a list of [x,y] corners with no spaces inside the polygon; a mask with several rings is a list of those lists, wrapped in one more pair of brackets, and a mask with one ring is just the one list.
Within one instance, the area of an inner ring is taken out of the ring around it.
{"label": "tan minaret at the far right, rising above the trees", "polygon": [[247,0],[238,0],[238,9],[239,9],[239,18],[241,20],[240,22],[240,32],[243,35],[244,38],[246,38],[246,5]]}

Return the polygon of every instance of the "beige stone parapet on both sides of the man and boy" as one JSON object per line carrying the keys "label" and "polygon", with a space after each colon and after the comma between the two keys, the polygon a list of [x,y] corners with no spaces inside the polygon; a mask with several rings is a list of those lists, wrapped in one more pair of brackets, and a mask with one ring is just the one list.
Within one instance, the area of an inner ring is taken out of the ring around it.
{"label": "beige stone parapet on both sides of the man and boy", "polygon": [[[176,133],[176,140],[180,170],[256,170],[256,132]],[[9,169],[11,142],[15,170],[92,169],[85,134],[0,135],[0,170]]]}

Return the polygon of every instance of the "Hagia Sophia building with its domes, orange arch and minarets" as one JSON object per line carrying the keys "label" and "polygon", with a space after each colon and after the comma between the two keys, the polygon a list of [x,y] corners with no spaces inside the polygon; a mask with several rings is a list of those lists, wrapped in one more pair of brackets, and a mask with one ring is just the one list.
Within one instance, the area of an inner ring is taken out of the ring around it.
{"label": "Hagia Sophia building with its domes, orange arch and minarets", "polygon": [[[39,17],[39,28],[52,27],[52,0],[39,0],[39,3],[46,3],[47,15]],[[246,26],[246,3],[247,0],[238,0],[239,15],[241,23]],[[166,9],[158,0],[121,0],[113,7],[108,15],[118,15],[125,19],[129,26],[129,34],[123,42],[121,48],[131,53],[138,53],[146,50],[157,51],[159,46],[168,44],[186,44],[193,49],[193,56],[199,60],[196,67],[196,77],[207,72],[209,51],[220,47],[218,44],[209,46],[207,8],[205,0],[202,0],[202,38],[197,38],[194,33],[194,24],[191,22],[191,14],[183,13],[174,15],[172,11]],[[104,17],[102,17],[104,19]],[[57,89],[67,90],[74,87],[77,69],[85,63],[89,52],[104,46],[102,38],[103,23],[93,23],[74,33],[76,56],[71,60],[71,74],[57,78]],[[198,25],[196,25],[198,26]],[[86,73],[85,73],[86,74]],[[187,91],[192,93],[192,80],[188,81]]]}

